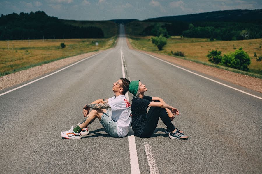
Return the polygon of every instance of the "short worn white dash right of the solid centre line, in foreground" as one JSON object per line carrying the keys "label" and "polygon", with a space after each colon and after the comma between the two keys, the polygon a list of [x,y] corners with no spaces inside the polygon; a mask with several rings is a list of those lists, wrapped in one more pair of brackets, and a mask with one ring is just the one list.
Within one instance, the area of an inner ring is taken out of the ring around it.
{"label": "short worn white dash right of the solid centre line, in foreground", "polygon": [[147,155],[147,163],[151,174],[159,174],[157,163],[155,162],[152,148],[148,142],[144,142],[145,153]]}

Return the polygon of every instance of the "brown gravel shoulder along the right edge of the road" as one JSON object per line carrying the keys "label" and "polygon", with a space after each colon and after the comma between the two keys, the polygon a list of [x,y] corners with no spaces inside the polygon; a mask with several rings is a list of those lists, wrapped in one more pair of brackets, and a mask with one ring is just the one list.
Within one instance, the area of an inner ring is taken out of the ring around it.
{"label": "brown gravel shoulder along the right edge of the road", "polygon": [[[126,42],[130,49],[137,50],[133,48],[133,46],[129,43],[128,38],[126,38]],[[191,70],[195,70],[195,71],[210,75],[212,77],[216,77],[218,79],[222,79],[224,81],[228,81],[233,84],[237,84],[245,88],[252,89],[254,91],[262,93],[262,79],[259,79],[256,77],[250,77],[247,75],[242,75],[239,73],[234,73],[231,71],[227,71],[227,70],[223,70],[223,69],[219,69],[219,68],[215,68],[215,67],[211,67],[211,66],[207,66],[203,64],[198,64],[192,61],[179,59],[173,56],[161,55],[161,54],[157,54],[154,52],[148,52],[148,51],[143,51],[143,50],[137,50],[137,51],[145,52],[147,54],[150,54],[160,59],[163,59],[165,61],[168,61],[170,63],[181,65]]]}

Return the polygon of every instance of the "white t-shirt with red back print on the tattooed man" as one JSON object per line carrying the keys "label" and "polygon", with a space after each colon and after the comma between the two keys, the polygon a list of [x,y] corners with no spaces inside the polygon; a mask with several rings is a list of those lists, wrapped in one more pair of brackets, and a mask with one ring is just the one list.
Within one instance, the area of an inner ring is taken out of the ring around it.
{"label": "white t-shirt with red back print on the tattooed man", "polygon": [[128,134],[131,126],[131,107],[129,101],[124,95],[111,97],[108,104],[112,109],[112,120],[117,122],[117,135],[124,137]]}

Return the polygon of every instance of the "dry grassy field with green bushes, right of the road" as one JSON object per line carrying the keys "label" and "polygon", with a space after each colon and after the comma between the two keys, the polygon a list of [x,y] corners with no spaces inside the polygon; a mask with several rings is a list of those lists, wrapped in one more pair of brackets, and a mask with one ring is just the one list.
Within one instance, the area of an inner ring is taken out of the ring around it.
{"label": "dry grassy field with green bushes, right of the road", "polygon": [[[172,37],[168,39],[167,45],[164,46],[163,50],[159,51],[157,47],[152,44],[151,36],[129,36],[128,38],[130,44],[136,49],[178,57],[196,63],[262,79],[262,61],[257,62],[256,57],[254,57],[254,52],[256,52],[258,56],[262,55],[262,49],[260,48],[260,46],[262,46],[262,39],[252,39],[245,41],[209,41],[209,39],[200,38]],[[219,50],[222,51],[222,54],[227,54],[228,52],[234,52],[234,47],[236,49],[243,47],[243,50],[249,54],[249,57],[251,58],[251,64],[249,66],[250,72],[212,64],[206,57],[208,51],[210,50]],[[171,51],[182,51],[186,57],[174,56],[171,54]]]}

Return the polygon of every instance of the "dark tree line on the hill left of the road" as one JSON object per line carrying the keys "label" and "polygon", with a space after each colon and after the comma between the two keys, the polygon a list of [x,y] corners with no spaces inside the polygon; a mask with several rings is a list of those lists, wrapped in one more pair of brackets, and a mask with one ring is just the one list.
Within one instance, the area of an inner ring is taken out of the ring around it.
{"label": "dark tree line on the hill left of the road", "polygon": [[2,14],[0,17],[0,40],[103,37],[101,28],[68,25],[43,11]]}

